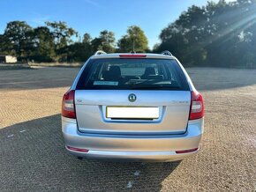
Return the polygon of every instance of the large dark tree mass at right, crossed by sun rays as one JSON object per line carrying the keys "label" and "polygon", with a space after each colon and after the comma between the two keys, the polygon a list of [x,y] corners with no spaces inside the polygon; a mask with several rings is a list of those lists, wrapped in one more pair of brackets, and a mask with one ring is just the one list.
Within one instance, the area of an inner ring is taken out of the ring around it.
{"label": "large dark tree mass at right, crossed by sun rays", "polygon": [[154,51],[169,49],[192,66],[251,66],[256,63],[255,10],[255,0],[193,5],[162,30]]}

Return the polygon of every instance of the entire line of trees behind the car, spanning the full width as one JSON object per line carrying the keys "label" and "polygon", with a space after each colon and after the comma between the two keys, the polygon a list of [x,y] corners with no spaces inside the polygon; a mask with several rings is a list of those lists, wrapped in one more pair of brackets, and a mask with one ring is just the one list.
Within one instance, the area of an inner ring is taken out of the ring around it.
{"label": "entire line of trees behind the car, spanning the full width", "polygon": [[[209,1],[192,5],[175,22],[162,29],[153,52],[169,50],[186,66],[256,67],[256,0],[227,3]],[[79,37],[79,38],[78,38]],[[147,52],[148,41],[139,26],[129,26],[116,41],[113,32],[80,37],[63,21],[31,27],[11,21],[0,34],[0,54],[34,62],[81,62],[95,51]]]}

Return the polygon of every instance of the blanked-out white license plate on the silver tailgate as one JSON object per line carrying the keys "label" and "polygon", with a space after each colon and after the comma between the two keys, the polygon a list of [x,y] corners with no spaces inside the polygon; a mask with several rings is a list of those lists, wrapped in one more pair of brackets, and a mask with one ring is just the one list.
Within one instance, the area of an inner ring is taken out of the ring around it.
{"label": "blanked-out white license plate on the silver tailgate", "polygon": [[107,107],[107,118],[158,119],[159,107]]}

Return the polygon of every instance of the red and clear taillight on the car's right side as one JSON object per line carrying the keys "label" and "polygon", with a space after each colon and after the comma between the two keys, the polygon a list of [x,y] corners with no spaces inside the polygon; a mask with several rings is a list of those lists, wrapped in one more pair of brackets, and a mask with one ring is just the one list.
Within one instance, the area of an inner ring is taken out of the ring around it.
{"label": "red and clear taillight on the car's right side", "polygon": [[189,120],[200,119],[205,114],[204,101],[200,92],[191,93],[191,109]]}

